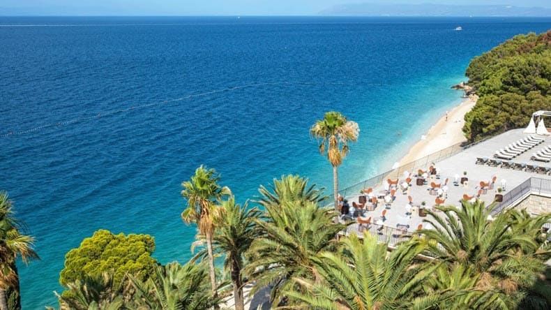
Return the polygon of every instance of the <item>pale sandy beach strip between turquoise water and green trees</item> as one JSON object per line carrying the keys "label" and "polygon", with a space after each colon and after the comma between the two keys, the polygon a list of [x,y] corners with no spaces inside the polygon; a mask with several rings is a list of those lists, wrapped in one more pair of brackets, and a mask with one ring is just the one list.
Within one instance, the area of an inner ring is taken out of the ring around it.
{"label": "pale sandy beach strip between turquoise water and green trees", "polygon": [[469,112],[476,103],[476,96],[463,101],[460,105],[448,111],[437,123],[432,126],[428,133],[423,135],[409,152],[400,160],[400,165],[411,163],[418,158],[422,158],[434,152],[438,152],[446,147],[451,147],[467,139],[463,135],[461,128],[465,124],[465,114]]}

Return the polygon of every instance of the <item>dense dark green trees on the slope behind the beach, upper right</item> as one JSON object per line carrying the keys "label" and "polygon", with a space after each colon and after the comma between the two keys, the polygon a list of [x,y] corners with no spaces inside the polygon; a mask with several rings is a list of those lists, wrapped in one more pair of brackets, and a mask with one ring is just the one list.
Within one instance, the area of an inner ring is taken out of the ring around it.
{"label": "dense dark green trees on the slope behind the beach, upper right", "polygon": [[551,110],[551,31],[515,36],[475,57],[465,74],[480,97],[465,115],[469,140],[527,126],[533,112]]}

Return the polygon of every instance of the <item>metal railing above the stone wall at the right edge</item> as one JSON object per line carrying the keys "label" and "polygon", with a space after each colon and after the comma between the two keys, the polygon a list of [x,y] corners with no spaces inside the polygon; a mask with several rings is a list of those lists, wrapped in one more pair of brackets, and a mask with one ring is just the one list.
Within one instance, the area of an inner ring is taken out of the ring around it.
{"label": "metal railing above the stone wall at the right edge", "polygon": [[531,177],[503,195],[503,200],[492,210],[492,215],[517,205],[528,195],[551,195],[551,180]]}

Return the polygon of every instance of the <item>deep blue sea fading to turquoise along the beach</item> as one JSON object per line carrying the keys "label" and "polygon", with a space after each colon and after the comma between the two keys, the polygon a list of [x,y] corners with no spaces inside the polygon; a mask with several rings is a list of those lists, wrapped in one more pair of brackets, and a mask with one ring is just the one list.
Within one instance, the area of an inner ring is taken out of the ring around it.
{"label": "deep blue sea fading to turquoise along the beach", "polygon": [[[453,31],[461,26],[463,31]],[[65,253],[99,228],[186,262],[181,182],[206,164],[237,200],[289,173],[331,192],[308,129],[361,128],[341,186],[389,168],[460,101],[469,60],[551,19],[0,17],[0,189],[36,236],[24,309],[55,304]],[[396,132],[401,131],[400,138]]]}

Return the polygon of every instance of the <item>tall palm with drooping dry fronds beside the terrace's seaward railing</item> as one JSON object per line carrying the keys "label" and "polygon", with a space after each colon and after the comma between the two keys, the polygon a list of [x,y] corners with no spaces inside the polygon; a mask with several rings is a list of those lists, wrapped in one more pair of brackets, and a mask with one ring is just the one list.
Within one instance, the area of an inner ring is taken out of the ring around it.
{"label": "tall palm with drooping dry fronds beside the terrace's seaward railing", "polygon": [[342,159],[348,154],[348,142],[356,142],[360,128],[355,121],[348,121],[339,112],[326,112],[324,119],[316,121],[310,134],[319,140],[319,153],[327,154],[333,166],[333,200],[338,207],[338,172]]}

